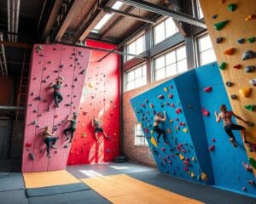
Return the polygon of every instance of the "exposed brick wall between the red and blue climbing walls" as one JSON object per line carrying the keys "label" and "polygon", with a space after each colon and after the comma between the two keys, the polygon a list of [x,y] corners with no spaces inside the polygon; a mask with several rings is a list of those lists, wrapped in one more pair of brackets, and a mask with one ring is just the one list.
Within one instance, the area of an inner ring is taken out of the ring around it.
{"label": "exposed brick wall between the red and blue climbing walls", "polygon": [[134,125],[137,124],[137,118],[131,108],[130,99],[169,79],[170,78],[154,82],[123,94],[123,150],[124,155],[132,162],[156,166],[148,146],[134,144]]}

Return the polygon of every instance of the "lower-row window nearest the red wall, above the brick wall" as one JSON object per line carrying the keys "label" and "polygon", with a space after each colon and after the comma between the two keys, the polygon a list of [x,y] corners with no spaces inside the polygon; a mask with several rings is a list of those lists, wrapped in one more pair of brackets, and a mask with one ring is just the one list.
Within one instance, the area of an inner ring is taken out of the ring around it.
{"label": "lower-row window nearest the red wall, above the brick wall", "polygon": [[147,83],[146,65],[137,66],[134,69],[125,71],[125,90],[142,87]]}

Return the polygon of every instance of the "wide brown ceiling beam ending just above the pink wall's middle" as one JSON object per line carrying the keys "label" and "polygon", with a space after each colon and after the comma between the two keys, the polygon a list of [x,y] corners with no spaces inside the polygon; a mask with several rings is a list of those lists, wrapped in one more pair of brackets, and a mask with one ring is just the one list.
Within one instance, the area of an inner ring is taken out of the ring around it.
{"label": "wide brown ceiling beam ending just above the pink wall's middle", "polygon": [[73,21],[73,17],[78,13],[81,8],[83,0],[71,0],[65,7],[61,7],[65,12],[61,12],[57,16],[58,25],[55,28],[54,41],[61,41],[61,37],[64,35],[70,23]]}

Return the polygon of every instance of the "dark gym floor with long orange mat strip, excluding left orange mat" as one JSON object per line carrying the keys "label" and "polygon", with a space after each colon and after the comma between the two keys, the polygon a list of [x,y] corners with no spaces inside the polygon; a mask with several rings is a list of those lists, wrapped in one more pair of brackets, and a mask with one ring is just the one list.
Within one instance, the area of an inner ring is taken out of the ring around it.
{"label": "dark gym floor with long orange mat strip, excluding left orange mat", "polygon": [[[212,186],[190,183],[179,178],[173,178],[162,174],[153,167],[146,167],[130,162],[108,162],[92,165],[68,166],[67,173],[72,174],[70,175],[71,177],[77,179],[78,182],[81,182],[79,185],[84,185],[83,188],[85,188],[85,190],[78,190],[78,188],[80,188],[78,187],[78,184],[71,184],[73,191],[66,192],[64,192],[65,190],[60,191],[59,189],[51,186],[47,188],[33,189],[36,191],[33,191],[32,194],[34,195],[31,195],[31,197],[28,196],[29,198],[27,198],[27,184],[25,187],[21,173],[0,173],[0,204],[80,204],[85,202],[90,204],[101,204],[135,203],[134,201],[140,204],[174,203],[173,201],[175,201],[175,203],[184,204],[256,204],[256,199],[253,197],[220,190]],[[127,193],[127,190],[125,191],[126,188],[129,189],[128,191],[131,195],[125,194],[125,196],[121,197],[121,200],[116,200],[113,188],[117,188],[119,184],[121,184],[119,188],[123,190],[122,192]],[[58,185],[57,188],[59,188],[59,186],[66,186],[67,190],[67,185]],[[70,188],[70,184],[68,185],[68,188]],[[146,192],[144,192],[146,189],[149,190],[148,193],[150,194],[146,194]],[[38,190],[41,190],[41,192]],[[48,192],[48,194],[40,195],[42,190],[44,191],[44,194],[45,192]],[[131,191],[133,191],[133,194]],[[55,194],[52,192],[55,192]],[[38,193],[39,195],[36,195]],[[111,194],[112,197],[108,198],[108,193]],[[140,201],[140,197],[143,196],[147,196],[148,200]],[[157,196],[159,196],[159,198],[163,198],[165,196],[167,198],[169,196],[170,200],[159,200],[160,202],[158,202]],[[131,197],[135,200],[130,200],[129,202]],[[176,199],[178,202],[176,202]]]}

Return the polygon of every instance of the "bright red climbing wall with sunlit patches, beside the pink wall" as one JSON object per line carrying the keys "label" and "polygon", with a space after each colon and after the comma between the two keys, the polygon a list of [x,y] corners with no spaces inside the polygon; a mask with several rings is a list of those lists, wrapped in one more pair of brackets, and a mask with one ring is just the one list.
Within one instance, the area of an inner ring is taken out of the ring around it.
{"label": "bright red climbing wall with sunlit patches, beside the pink wall", "polygon": [[[87,41],[87,45],[96,48],[114,48],[113,45]],[[119,56],[92,51],[90,65],[86,72],[84,90],[79,110],[79,124],[70,150],[67,164],[90,164],[111,161],[119,155]],[[100,137],[99,143],[91,127],[91,117],[96,116],[110,136]]]}

